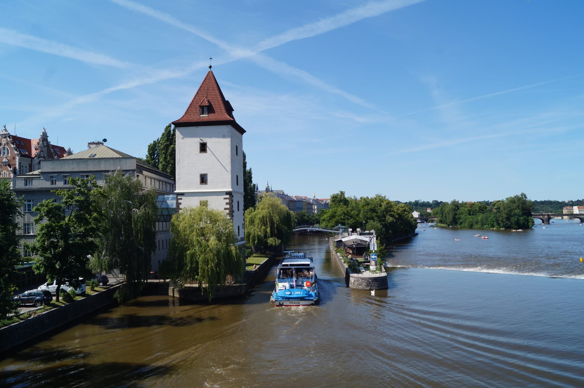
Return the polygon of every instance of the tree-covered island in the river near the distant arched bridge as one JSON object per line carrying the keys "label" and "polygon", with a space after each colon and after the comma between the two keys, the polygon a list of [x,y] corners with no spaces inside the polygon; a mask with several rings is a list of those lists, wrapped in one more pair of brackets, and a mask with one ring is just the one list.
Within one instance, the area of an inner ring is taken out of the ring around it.
{"label": "tree-covered island in the river near the distant arched bridge", "polygon": [[437,223],[481,229],[521,229],[534,224],[533,203],[524,193],[485,205],[481,202],[444,202],[432,211]]}

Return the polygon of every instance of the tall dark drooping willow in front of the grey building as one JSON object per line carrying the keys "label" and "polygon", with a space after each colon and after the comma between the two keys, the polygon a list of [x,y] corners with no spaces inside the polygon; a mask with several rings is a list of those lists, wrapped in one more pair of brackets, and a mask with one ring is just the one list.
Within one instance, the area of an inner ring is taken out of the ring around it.
{"label": "tall dark drooping willow in front of the grey building", "polygon": [[140,179],[121,170],[104,177],[100,206],[105,213],[95,259],[100,269],[119,268],[124,284],[116,299],[124,302],[140,293],[155,251],[158,207],[154,189],[142,189]]}

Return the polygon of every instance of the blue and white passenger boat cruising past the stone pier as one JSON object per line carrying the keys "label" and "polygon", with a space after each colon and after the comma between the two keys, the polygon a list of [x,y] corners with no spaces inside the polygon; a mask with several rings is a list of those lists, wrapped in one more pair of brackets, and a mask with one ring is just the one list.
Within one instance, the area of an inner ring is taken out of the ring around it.
{"label": "blue and white passenger boat cruising past the stone pier", "polygon": [[305,252],[285,251],[278,264],[276,286],[270,302],[277,307],[310,306],[317,300],[317,275],[312,257]]}

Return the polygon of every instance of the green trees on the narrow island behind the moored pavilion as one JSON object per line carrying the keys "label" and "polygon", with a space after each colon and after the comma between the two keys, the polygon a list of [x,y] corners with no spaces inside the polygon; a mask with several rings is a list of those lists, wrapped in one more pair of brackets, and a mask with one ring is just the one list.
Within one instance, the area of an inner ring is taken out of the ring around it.
{"label": "green trees on the narrow island behind the moored pavilion", "polygon": [[321,210],[321,227],[333,228],[338,224],[351,228],[374,229],[383,244],[414,233],[416,221],[412,210],[377,194],[376,196],[350,198],[339,191],[331,195],[330,209]]}

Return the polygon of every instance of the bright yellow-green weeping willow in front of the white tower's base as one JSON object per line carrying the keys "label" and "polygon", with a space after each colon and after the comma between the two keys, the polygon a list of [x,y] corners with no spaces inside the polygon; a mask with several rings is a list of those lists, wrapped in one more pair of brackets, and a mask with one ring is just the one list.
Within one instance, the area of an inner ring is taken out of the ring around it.
{"label": "bright yellow-green weeping willow in front of the white tower's base", "polygon": [[172,217],[171,234],[168,259],[173,279],[198,283],[211,300],[228,277],[241,278],[245,262],[235,246],[233,221],[225,212],[207,209],[206,204],[185,207]]}

